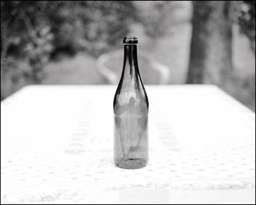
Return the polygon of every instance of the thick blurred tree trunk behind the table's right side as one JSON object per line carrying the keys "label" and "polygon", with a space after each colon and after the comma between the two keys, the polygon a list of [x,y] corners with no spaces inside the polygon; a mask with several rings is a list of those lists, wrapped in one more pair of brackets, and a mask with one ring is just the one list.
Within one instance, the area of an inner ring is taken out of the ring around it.
{"label": "thick blurred tree trunk behind the table's right side", "polygon": [[230,1],[193,1],[187,83],[223,87],[232,70]]}

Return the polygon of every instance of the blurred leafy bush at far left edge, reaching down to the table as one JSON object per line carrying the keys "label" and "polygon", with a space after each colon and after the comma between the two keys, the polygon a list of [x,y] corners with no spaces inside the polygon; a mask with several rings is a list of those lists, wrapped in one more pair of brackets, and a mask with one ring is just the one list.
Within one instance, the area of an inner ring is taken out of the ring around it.
{"label": "blurred leafy bush at far left edge, reaching down to the table", "polygon": [[42,79],[53,50],[48,6],[47,1],[1,1],[1,99]]}

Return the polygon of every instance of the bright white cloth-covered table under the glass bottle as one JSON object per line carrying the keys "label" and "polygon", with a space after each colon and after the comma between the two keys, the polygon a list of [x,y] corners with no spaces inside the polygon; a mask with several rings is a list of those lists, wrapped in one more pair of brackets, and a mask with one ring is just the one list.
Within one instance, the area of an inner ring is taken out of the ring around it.
{"label": "bright white cloth-covered table under the glass bottle", "polygon": [[213,85],[148,85],[149,162],[113,163],[116,85],[1,101],[1,202],[255,204],[255,112]]}

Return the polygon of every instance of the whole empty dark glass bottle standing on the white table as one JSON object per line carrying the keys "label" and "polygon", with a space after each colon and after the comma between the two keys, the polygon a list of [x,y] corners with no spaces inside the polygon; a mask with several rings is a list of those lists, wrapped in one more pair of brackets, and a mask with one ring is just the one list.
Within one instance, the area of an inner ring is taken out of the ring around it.
{"label": "whole empty dark glass bottle standing on the white table", "polygon": [[113,101],[114,161],[123,169],[148,163],[148,96],[140,77],[136,37],[124,38],[124,66]]}

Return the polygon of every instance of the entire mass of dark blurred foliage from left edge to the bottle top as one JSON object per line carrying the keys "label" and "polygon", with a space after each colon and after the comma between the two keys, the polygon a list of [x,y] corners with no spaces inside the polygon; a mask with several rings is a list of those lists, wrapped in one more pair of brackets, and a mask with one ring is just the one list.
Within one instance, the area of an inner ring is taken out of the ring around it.
{"label": "entire mass of dark blurred foliage from left edge to the bottle top", "polygon": [[110,50],[137,13],[131,1],[1,1],[1,98],[18,82],[41,82],[45,63],[60,52]]}

